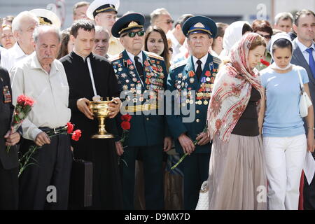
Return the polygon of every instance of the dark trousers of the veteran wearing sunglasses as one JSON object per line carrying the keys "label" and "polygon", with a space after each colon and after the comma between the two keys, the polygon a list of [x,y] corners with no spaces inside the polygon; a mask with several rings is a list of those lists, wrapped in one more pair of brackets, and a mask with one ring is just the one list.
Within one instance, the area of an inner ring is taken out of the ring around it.
{"label": "dark trousers of the veteran wearing sunglasses", "polygon": [[144,197],[147,210],[164,209],[162,158],[163,147],[137,146],[127,147],[120,162],[123,182],[124,209],[134,209],[134,170],[135,162],[140,156],[144,164]]}

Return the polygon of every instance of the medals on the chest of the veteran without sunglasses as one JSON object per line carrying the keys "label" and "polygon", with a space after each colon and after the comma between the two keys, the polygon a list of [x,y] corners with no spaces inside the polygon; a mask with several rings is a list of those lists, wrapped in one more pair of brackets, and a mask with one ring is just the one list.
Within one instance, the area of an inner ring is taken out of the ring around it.
{"label": "medals on the chest of the veteran without sunglasses", "polygon": [[[200,88],[197,90],[195,95],[195,103],[197,105],[208,105],[209,98],[211,97],[211,92],[214,87],[214,77],[216,76],[216,72],[211,73],[210,71],[206,71],[204,77],[200,80]],[[193,95],[192,95],[192,87],[188,87],[188,81],[190,84],[195,82],[195,73],[194,71],[190,71],[187,76],[183,76],[183,73],[179,73],[177,79],[175,81],[175,87],[179,91],[178,103],[181,106],[186,106],[186,104],[193,104]],[[187,81],[188,80],[188,81]],[[182,89],[183,88],[183,89]],[[202,101],[203,99],[203,101]]]}

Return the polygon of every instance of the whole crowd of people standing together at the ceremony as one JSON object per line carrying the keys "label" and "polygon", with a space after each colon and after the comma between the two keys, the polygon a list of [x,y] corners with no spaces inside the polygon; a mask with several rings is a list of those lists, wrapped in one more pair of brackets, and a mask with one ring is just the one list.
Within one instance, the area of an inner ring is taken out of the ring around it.
{"label": "whole crowd of people standing together at the ceremony", "polygon": [[[137,8],[119,6],[78,2],[63,30],[46,9],[0,19],[0,209],[192,210],[204,181],[207,209],[315,209],[315,180],[303,172],[314,153],[314,107],[299,112],[302,91],[315,104],[315,13],[228,25],[189,12],[174,21],[157,8],[145,28]],[[144,104],[158,111],[149,99],[164,90],[195,119],[144,113]],[[21,94],[36,104],[13,132]],[[113,139],[91,139],[98,122],[89,105],[101,97],[113,99]],[[123,102],[134,103],[125,107],[125,141]],[[68,122],[82,131],[79,141],[49,137]],[[41,147],[38,165],[18,176],[32,145]],[[93,165],[88,207],[71,197],[73,158]],[[47,202],[48,186],[57,202]]]}

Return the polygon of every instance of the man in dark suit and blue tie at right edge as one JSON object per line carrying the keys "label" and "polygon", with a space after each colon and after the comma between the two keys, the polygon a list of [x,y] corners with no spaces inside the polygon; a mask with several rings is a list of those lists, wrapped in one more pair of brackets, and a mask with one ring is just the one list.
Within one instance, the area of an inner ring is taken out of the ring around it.
{"label": "man in dark suit and blue tie at right edge", "polygon": [[[304,67],[309,76],[309,92],[315,109],[315,14],[311,10],[301,10],[295,15],[293,29],[297,38],[293,41],[293,56],[291,63]],[[306,123],[305,123],[306,124]],[[307,130],[312,127],[305,127]],[[304,209],[315,209],[315,178],[309,185],[304,178]]]}

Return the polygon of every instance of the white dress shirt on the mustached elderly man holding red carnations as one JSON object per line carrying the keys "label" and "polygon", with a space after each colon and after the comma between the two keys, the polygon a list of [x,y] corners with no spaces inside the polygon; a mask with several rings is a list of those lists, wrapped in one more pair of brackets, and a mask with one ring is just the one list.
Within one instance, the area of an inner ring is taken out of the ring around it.
{"label": "white dress shirt on the mustached elderly man holding red carnations", "polygon": [[69,122],[69,85],[61,62],[55,59],[50,73],[45,71],[33,52],[11,70],[13,104],[25,94],[35,104],[22,123],[23,137],[34,141],[41,132],[38,127],[61,127]]}

